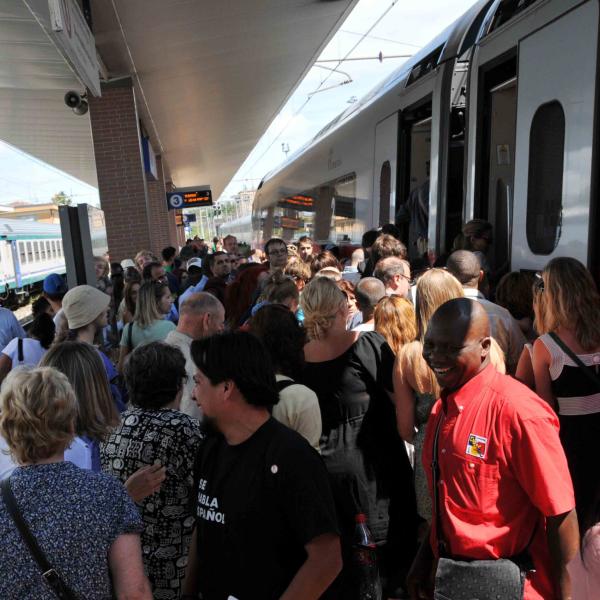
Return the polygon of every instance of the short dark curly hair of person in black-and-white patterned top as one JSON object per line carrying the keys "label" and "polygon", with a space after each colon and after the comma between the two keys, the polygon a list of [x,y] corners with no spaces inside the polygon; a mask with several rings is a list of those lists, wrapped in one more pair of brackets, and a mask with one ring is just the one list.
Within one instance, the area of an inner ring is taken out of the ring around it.
{"label": "short dark curly hair of person in black-and-white patterned top", "polygon": [[125,384],[131,403],[140,408],[163,408],[175,400],[187,379],[185,357],[164,342],[138,346],[125,363]]}

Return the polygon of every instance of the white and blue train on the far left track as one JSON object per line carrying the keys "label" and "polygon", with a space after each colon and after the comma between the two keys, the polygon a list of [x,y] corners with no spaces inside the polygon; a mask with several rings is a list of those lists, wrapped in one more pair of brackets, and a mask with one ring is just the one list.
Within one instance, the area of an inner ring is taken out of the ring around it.
{"label": "white and blue train on the far left track", "polygon": [[25,300],[46,275],[65,272],[59,225],[0,219],[0,296],[5,302]]}

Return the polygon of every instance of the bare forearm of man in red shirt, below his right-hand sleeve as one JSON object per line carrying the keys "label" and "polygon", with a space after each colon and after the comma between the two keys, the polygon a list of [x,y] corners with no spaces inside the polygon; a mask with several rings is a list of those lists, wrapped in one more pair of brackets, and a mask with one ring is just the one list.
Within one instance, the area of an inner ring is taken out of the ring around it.
{"label": "bare forearm of man in red shirt, below his right-hand sleeve", "polygon": [[546,535],[554,565],[556,584],[560,590],[558,597],[561,600],[570,600],[571,580],[567,565],[579,551],[579,527],[575,509],[562,515],[547,517]]}

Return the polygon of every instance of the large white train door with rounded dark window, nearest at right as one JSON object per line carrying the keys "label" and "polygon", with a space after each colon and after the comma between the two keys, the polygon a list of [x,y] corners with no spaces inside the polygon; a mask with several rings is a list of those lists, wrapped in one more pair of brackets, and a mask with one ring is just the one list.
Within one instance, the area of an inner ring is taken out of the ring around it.
{"label": "large white train door with rounded dark window, nearest at right", "polygon": [[598,17],[589,0],[519,42],[513,269],[588,262]]}

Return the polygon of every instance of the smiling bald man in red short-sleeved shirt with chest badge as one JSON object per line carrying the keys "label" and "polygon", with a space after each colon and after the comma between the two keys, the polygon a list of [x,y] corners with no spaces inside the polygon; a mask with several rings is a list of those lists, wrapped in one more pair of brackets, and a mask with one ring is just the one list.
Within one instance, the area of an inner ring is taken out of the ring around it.
{"label": "smiling bald man in red short-sleeved shirt with chest badge", "polygon": [[432,492],[441,420],[441,535],[434,514],[409,573],[411,598],[433,597],[441,538],[446,555],[457,560],[510,558],[527,550],[535,571],[527,573],[524,598],[566,600],[566,567],[579,534],[558,419],[529,388],[498,373],[489,350],[489,322],[478,302],[450,300],[431,319],[423,356],[443,392],[427,424],[423,464]]}

